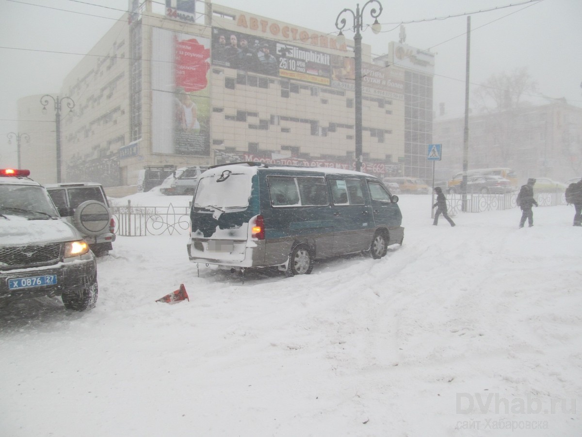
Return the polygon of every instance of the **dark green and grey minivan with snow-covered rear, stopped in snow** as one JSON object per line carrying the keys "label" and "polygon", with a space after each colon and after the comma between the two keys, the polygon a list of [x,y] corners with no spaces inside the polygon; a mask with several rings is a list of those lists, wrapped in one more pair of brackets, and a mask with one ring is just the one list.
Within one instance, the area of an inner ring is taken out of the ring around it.
{"label": "dark green and grey minivan with snow-covered rear, stopped in snow", "polygon": [[402,244],[398,196],[369,174],[336,168],[221,164],[198,178],[191,262],[308,274],[314,260]]}

